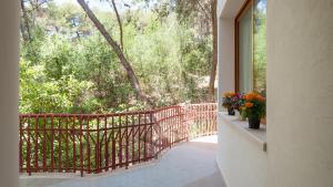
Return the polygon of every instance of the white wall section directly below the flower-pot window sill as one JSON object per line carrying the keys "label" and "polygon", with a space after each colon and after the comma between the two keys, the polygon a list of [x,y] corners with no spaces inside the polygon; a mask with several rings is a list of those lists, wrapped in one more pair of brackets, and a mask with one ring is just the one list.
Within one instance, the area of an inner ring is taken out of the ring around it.
{"label": "white wall section directly below the flower-pot window sill", "polygon": [[[244,131],[244,129],[243,129]],[[218,165],[229,187],[266,187],[266,152],[219,115]]]}

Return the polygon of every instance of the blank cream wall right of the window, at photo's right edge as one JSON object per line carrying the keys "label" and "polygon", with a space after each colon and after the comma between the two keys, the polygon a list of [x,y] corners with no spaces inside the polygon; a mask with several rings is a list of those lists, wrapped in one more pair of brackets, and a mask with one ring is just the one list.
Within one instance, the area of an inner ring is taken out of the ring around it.
{"label": "blank cream wall right of the window, at photo's right edge", "polygon": [[270,187],[333,186],[333,1],[268,0]]}

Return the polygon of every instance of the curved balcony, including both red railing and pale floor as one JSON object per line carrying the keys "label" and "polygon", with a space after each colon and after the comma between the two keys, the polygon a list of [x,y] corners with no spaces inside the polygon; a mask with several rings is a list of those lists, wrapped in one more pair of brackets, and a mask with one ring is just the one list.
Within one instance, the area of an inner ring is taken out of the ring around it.
{"label": "curved balcony, including both red railing and pale floor", "polygon": [[215,134],[216,104],[21,115],[21,187],[223,187]]}

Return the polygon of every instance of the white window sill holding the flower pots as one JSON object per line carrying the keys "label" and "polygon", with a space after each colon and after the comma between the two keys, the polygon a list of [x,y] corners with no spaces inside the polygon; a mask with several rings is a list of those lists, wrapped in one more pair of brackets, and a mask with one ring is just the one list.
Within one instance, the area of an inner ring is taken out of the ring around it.
{"label": "white window sill holding the flower pots", "polygon": [[249,141],[258,144],[263,152],[266,152],[268,143],[265,125],[260,125],[260,129],[251,129],[249,128],[249,122],[240,121],[238,116],[230,116],[226,112],[219,112],[218,115],[224,124],[234,127],[234,129],[239,131],[240,134],[244,135]]}

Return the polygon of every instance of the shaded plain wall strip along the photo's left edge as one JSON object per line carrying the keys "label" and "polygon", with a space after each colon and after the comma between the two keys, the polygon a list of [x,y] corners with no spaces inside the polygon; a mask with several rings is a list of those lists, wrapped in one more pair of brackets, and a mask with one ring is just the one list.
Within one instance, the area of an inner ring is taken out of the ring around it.
{"label": "shaded plain wall strip along the photo's left edge", "polygon": [[0,6],[0,186],[19,186],[19,1]]}

